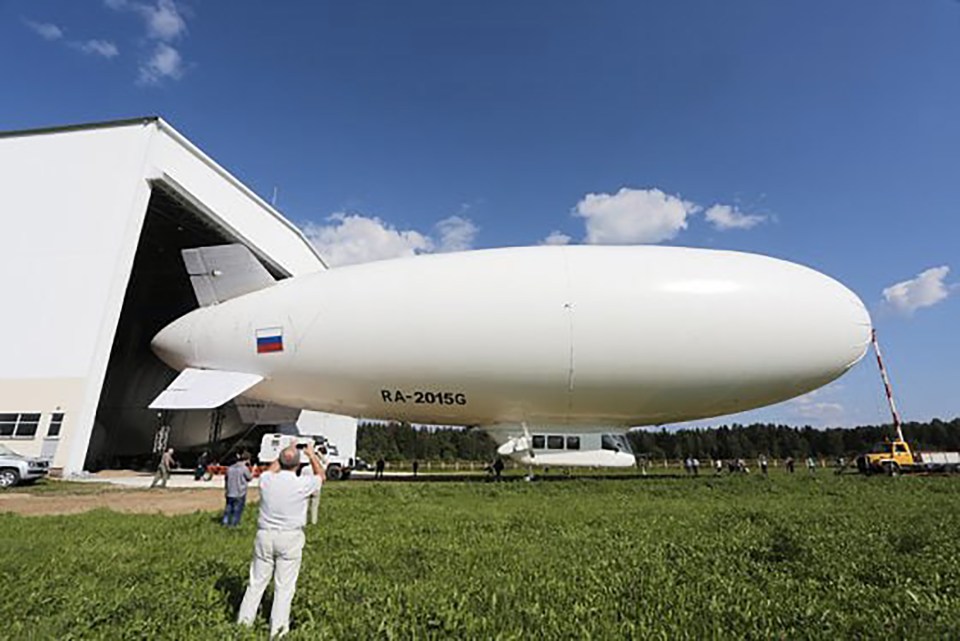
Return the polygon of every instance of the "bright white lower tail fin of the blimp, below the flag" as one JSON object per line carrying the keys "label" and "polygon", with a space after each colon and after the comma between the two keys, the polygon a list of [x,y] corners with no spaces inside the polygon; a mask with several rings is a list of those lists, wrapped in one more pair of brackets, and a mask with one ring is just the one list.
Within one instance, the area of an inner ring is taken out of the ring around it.
{"label": "bright white lower tail fin of the blimp, below the flag", "polygon": [[152,410],[213,409],[263,380],[259,374],[188,367],[150,403]]}

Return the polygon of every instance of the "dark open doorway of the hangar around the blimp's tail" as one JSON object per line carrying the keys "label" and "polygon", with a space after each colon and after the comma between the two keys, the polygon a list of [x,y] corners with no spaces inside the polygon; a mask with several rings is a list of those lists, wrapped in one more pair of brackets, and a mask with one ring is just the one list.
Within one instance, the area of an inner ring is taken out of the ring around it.
{"label": "dark open doorway of the hangar around the blimp's tail", "polygon": [[[150,350],[166,324],[197,307],[180,250],[238,242],[215,221],[164,183],[154,183],[137,244],[123,308],[97,406],[84,469],[140,467],[152,460],[160,417],[147,405],[176,376]],[[275,278],[283,277],[266,266]],[[211,413],[176,412],[167,417],[169,444],[201,448],[210,438]],[[243,428],[235,407],[217,420],[218,433]]]}

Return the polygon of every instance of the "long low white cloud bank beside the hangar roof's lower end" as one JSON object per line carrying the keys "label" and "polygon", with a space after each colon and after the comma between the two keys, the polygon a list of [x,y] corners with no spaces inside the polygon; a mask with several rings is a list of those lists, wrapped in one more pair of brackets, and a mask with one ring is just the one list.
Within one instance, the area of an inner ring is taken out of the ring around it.
{"label": "long low white cloud bank beside the hangar roof's lower end", "polygon": [[303,233],[331,267],[434,251],[464,251],[471,248],[479,231],[473,221],[462,216],[450,216],[434,225],[436,238],[360,214],[336,213],[327,221],[331,224],[308,223]]}

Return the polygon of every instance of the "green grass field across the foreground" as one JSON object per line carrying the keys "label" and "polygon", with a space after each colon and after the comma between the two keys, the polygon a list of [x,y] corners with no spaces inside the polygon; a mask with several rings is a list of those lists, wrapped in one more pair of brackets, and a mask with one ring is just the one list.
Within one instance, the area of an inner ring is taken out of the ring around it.
{"label": "green grass field across the foreground", "polygon": [[[210,513],[0,514],[0,636],[264,638]],[[349,482],[288,638],[958,638],[960,479]]]}

